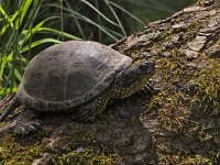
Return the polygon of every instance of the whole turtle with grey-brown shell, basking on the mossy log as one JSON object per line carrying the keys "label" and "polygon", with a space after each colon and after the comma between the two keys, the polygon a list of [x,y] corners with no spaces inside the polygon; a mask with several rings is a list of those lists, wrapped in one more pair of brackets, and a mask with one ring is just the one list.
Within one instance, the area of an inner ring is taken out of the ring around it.
{"label": "whole turtle with grey-brown shell, basking on the mossy log", "polygon": [[76,121],[94,122],[113,100],[142,90],[154,70],[152,61],[134,65],[131,57],[94,41],[62,42],[31,59],[0,121],[22,106],[15,134],[37,131],[41,111],[73,111]]}

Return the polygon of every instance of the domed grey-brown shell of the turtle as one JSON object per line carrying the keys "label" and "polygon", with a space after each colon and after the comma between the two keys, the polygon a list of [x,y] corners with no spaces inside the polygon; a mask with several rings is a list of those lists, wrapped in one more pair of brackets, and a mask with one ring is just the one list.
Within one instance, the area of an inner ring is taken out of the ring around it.
{"label": "domed grey-brown shell of the turtle", "polygon": [[26,107],[59,111],[102,94],[132,59],[91,41],[53,45],[28,65],[16,97]]}

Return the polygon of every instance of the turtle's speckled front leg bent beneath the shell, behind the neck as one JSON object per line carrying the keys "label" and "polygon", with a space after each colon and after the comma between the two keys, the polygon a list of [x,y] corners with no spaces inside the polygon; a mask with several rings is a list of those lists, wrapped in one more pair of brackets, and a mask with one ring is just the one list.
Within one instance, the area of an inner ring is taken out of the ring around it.
{"label": "turtle's speckled front leg bent beneath the shell, behind the neck", "polygon": [[103,94],[91,100],[88,105],[80,106],[76,114],[76,120],[79,122],[94,122],[105,111],[108,100],[108,95]]}

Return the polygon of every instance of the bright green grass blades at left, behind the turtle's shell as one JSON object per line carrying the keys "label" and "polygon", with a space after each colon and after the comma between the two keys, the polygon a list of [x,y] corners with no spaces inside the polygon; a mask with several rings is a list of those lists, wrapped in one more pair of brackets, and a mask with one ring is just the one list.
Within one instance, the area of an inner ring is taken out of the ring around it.
{"label": "bright green grass blades at left, behind the turtle's shell", "polygon": [[[42,8],[38,0],[10,0],[0,4],[0,95],[6,95],[16,90],[24,67],[32,57],[32,48],[45,43],[59,43],[61,35],[72,40],[77,37],[45,25],[57,16],[35,22]],[[38,33],[45,35],[35,37]],[[46,35],[51,33],[56,37]]]}

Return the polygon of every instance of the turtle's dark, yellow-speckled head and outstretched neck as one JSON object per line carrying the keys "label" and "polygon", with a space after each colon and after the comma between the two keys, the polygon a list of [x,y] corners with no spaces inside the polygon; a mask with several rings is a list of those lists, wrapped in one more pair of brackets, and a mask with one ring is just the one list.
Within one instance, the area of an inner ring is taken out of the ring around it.
{"label": "turtle's dark, yellow-speckled head and outstretched neck", "polygon": [[145,61],[120,72],[113,84],[114,99],[122,99],[143,89],[155,70],[152,61]]}

